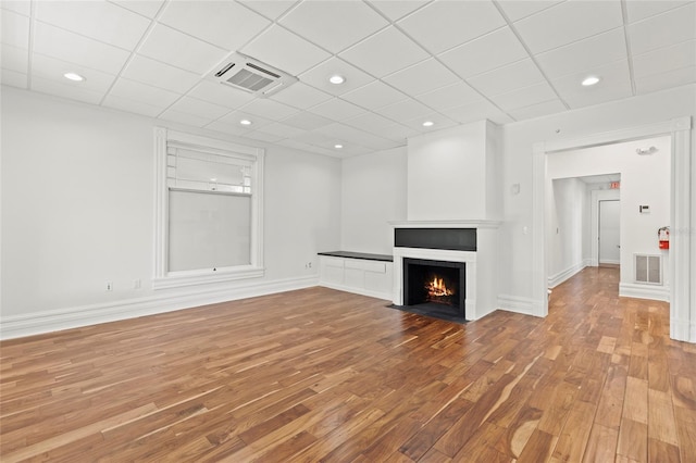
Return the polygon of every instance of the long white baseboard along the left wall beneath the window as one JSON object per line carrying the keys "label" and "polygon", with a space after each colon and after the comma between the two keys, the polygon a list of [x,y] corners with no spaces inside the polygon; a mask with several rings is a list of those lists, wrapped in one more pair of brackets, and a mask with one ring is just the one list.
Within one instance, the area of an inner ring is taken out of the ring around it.
{"label": "long white baseboard along the left wall beneath the window", "polygon": [[213,290],[184,289],[147,298],[82,305],[70,309],[2,317],[0,339],[39,335],[61,329],[78,328],[119,320],[135,318],[199,305],[272,295],[319,284],[319,276],[287,278]]}

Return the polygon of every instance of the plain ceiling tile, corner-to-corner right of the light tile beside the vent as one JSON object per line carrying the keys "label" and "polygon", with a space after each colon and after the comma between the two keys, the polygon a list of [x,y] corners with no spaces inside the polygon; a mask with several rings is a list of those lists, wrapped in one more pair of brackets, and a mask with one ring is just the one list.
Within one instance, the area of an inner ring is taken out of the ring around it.
{"label": "plain ceiling tile, corner-to-corner right of the light tile beside the vent", "polygon": [[407,95],[421,95],[459,82],[460,78],[437,60],[430,59],[398,71],[383,80]]}

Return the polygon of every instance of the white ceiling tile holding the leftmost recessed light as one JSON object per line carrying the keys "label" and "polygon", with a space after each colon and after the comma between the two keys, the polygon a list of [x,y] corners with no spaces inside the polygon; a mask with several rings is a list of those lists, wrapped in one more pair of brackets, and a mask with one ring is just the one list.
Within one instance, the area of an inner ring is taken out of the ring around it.
{"label": "white ceiling tile holding the leftmost recessed light", "polygon": [[[85,80],[72,82],[63,77],[63,74],[70,72],[82,75],[85,77]],[[84,90],[97,91],[101,95],[104,95],[109,90],[116,78],[113,74],[102,73],[39,53],[34,53],[34,58],[32,59],[32,78],[34,77],[54,80],[58,84],[69,85]]]}

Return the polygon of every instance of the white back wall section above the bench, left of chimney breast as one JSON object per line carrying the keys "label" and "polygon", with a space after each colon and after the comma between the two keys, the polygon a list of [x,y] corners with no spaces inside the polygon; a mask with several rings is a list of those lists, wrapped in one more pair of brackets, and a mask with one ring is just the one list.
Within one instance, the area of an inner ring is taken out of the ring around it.
{"label": "white back wall section above the bench, left of chimney breast", "polygon": [[406,147],[343,161],[343,250],[391,253],[389,222],[406,220]]}

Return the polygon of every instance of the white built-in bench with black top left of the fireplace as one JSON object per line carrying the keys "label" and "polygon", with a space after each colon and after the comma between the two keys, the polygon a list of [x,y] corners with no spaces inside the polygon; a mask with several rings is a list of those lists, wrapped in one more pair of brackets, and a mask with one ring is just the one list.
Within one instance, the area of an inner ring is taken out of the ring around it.
{"label": "white built-in bench with black top left of the fireplace", "polygon": [[394,258],[352,251],[318,252],[319,284],[341,291],[391,299]]}

